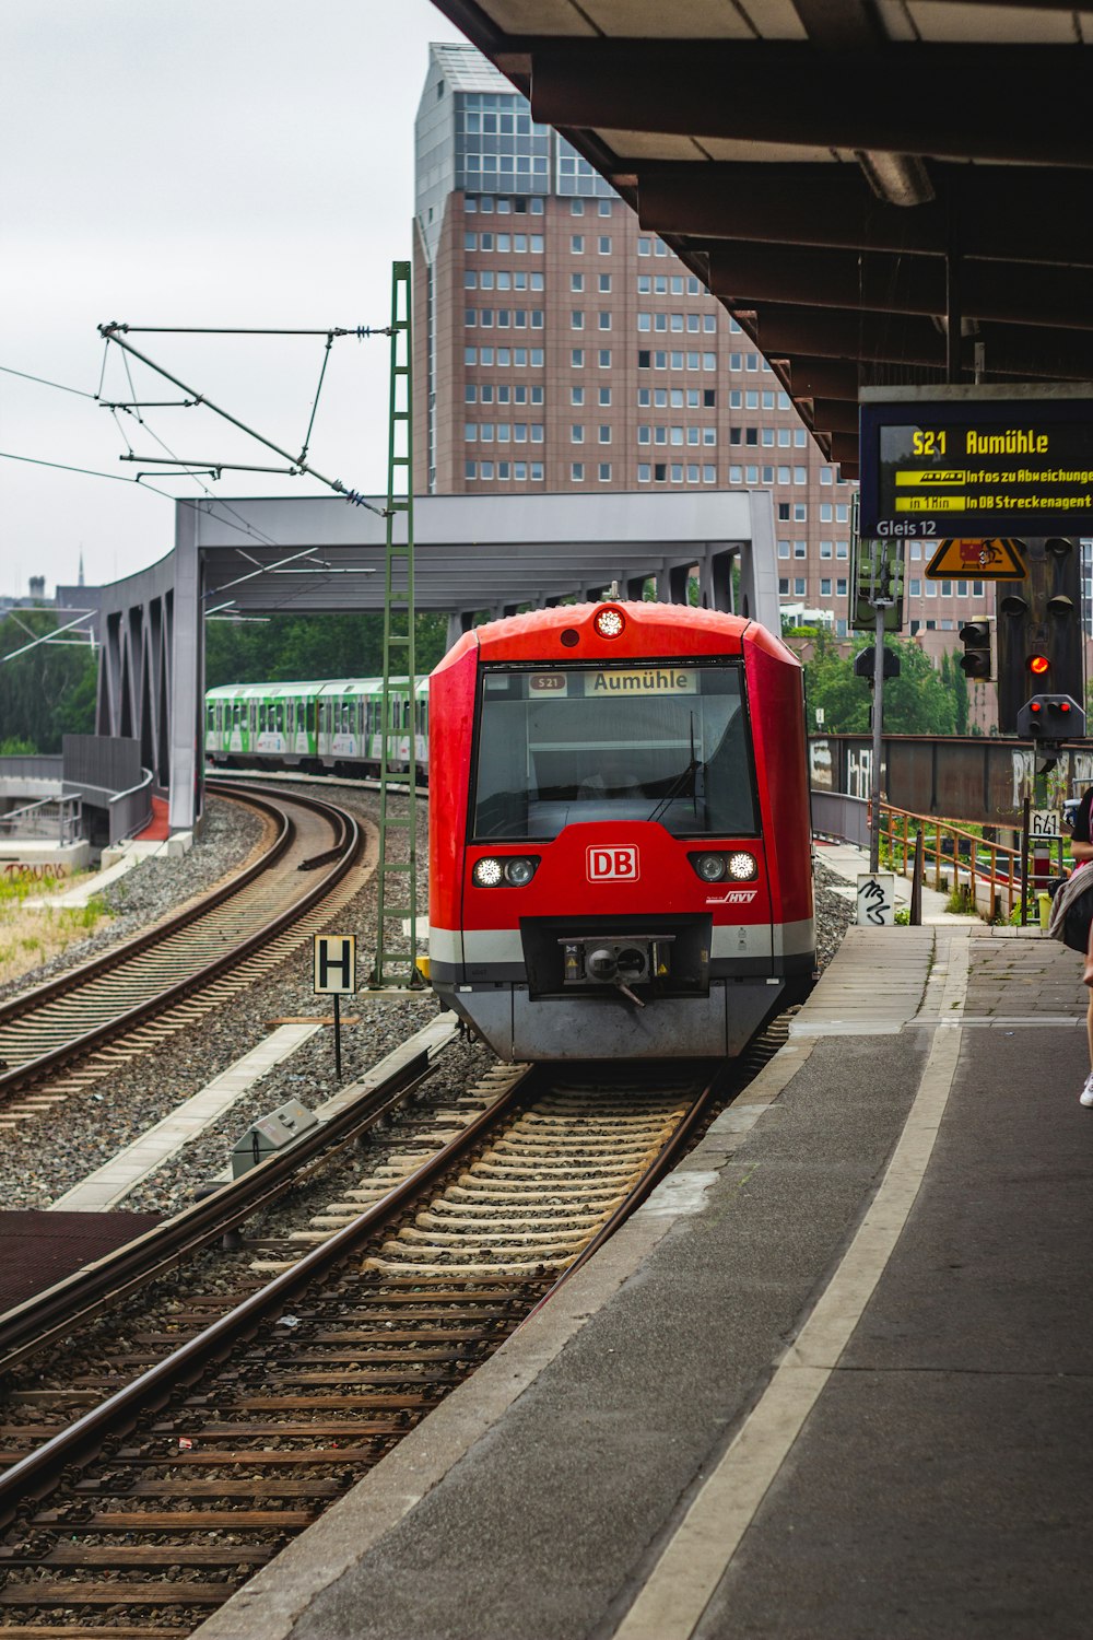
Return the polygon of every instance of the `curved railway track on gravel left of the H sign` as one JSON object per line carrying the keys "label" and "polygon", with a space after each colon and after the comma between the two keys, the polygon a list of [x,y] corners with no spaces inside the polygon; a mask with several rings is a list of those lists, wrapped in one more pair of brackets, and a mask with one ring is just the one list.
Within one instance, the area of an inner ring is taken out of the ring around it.
{"label": "curved railway track on gravel left of the H sign", "polygon": [[347,884],[362,850],[356,817],[300,792],[210,789],[265,815],[261,858],[174,917],[0,1007],[0,1125],[41,1115],[118,1059],[192,1027],[280,963],[356,891]]}

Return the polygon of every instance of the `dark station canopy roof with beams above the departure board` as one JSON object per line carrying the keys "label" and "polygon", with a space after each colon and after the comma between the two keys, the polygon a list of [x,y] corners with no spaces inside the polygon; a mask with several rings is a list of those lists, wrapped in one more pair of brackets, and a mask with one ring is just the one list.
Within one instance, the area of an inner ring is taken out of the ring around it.
{"label": "dark station canopy roof with beams above the departure board", "polygon": [[721,298],[846,477],[860,387],[1093,380],[1093,8],[434,3]]}

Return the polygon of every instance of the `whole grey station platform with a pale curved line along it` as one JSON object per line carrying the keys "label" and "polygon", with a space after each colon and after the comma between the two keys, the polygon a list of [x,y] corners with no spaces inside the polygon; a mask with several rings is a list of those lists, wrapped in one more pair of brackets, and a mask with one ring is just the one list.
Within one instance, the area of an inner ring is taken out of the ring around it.
{"label": "whole grey station platform with a pale curved line along it", "polygon": [[680,1169],[202,1640],[1086,1637],[1080,966],[852,928]]}

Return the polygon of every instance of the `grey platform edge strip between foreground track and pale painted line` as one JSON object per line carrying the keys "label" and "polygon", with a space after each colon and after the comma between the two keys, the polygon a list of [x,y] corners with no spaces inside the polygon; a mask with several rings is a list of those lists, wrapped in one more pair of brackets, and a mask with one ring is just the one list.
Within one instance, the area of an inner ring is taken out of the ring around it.
{"label": "grey platform edge strip between foreground track and pale painted line", "polygon": [[875,986],[885,1035],[793,1036],[603,1253],[202,1640],[613,1630],[823,1291],[914,1099],[927,1033],[898,1053],[888,1033],[926,992],[932,933],[862,933],[882,935],[873,981],[896,953],[911,974],[888,999]]}

